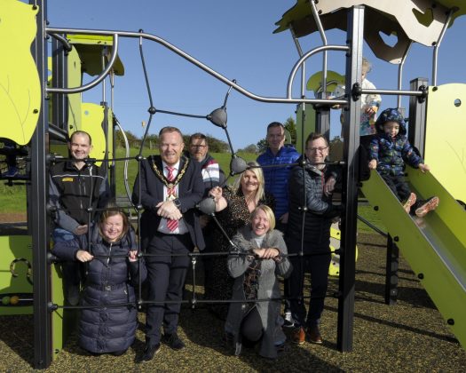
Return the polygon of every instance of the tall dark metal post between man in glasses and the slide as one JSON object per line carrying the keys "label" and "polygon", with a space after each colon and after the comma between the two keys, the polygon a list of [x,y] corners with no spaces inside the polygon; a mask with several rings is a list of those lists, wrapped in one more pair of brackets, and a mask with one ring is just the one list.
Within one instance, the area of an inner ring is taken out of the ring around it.
{"label": "tall dark metal post between man in glasses and the slide", "polygon": [[344,109],[344,188],[342,203],[342,247],[340,255],[338,322],[336,345],[342,352],[352,350],[354,318],[355,248],[358,213],[359,123],[360,95],[351,95],[361,84],[362,45],[364,40],[364,6],[354,6],[348,12],[345,94],[350,99]]}

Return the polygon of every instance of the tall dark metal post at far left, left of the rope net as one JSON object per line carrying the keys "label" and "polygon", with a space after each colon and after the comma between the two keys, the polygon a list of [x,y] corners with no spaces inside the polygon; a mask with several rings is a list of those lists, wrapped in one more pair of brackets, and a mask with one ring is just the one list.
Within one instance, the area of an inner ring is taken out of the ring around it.
{"label": "tall dark metal post at far left, left of the rope net", "polygon": [[49,103],[44,92],[47,84],[47,43],[45,22],[47,20],[47,1],[30,0],[39,6],[37,13],[37,34],[33,44],[33,55],[42,88],[41,108],[36,131],[31,139],[31,193],[30,201],[35,204],[31,218],[33,246],[34,280],[34,368],[44,369],[51,364],[51,313],[48,303],[51,298],[50,266],[47,263],[49,248],[49,217],[47,214],[48,195],[48,127]]}

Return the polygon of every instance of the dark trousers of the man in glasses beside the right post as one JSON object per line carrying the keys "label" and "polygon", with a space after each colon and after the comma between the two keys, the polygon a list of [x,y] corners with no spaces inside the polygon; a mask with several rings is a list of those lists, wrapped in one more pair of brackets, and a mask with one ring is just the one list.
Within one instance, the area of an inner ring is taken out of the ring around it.
{"label": "dark trousers of the man in glasses beside the right post", "polygon": [[[288,253],[298,253],[301,243],[296,239],[287,239]],[[304,242],[304,257],[290,257],[293,272],[288,278],[288,294],[291,298],[291,315],[301,326],[311,327],[320,323],[320,315],[324,310],[324,299],[328,289],[328,266],[331,254],[325,250],[312,250],[312,243]],[[306,317],[304,305],[304,274],[311,274],[311,300]]]}

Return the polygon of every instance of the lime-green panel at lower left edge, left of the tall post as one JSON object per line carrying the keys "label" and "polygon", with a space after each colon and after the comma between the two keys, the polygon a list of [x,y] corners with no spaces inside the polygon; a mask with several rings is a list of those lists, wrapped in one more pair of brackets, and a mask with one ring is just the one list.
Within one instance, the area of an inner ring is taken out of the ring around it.
{"label": "lime-green panel at lower left edge, left of the tall post", "polygon": [[32,292],[31,236],[0,236],[0,314],[32,313]]}

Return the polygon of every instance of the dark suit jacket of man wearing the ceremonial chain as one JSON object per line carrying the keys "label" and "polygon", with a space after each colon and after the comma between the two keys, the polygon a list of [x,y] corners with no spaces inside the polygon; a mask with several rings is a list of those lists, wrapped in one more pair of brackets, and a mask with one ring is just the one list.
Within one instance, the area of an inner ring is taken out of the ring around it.
{"label": "dark suit jacket of man wearing the ceremonial chain", "polygon": [[[180,210],[191,240],[194,246],[197,246],[199,250],[203,250],[205,244],[195,206],[201,201],[204,193],[204,183],[202,182],[201,168],[197,162],[188,161],[186,157],[182,156],[179,163],[179,171],[183,169],[186,162],[189,162],[186,172],[178,183],[178,200],[181,203]],[[153,240],[161,221],[161,217],[157,215],[158,209],[155,206],[157,203],[163,202],[163,183],[155,174],[153,163],[157,165],[163,174],[161,156],[149,156],[141,162],[132,194],[133,202],[136,204],[140,202],[144,207],[139,226],[142,248],[144,250],[146,250],[149,243]]]}

